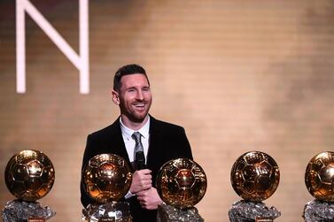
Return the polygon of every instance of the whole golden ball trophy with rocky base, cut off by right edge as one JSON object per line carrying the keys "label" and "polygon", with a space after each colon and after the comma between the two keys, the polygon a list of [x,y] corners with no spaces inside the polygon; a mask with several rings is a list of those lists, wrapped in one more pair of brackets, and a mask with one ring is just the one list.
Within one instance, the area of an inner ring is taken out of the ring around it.
{"label": "whole golden ball trophy with rocky base, cut off by right edge", "polygon": [[305,184],[315,197],[315,200],[305,204],[305,221],[334,221],[334,152],[319,153],[309,161]]}

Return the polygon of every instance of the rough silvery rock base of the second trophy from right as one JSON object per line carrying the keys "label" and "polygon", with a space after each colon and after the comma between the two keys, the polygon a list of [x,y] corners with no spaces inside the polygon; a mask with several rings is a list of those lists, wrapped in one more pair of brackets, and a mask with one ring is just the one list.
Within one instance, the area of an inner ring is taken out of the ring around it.
{"label": "rough silvery rock base of the second trophy from right", "polygon": [[275,207],[268,208],[261,202],[237,201],[229,209],[230,222],[272,222],[281,216]]}

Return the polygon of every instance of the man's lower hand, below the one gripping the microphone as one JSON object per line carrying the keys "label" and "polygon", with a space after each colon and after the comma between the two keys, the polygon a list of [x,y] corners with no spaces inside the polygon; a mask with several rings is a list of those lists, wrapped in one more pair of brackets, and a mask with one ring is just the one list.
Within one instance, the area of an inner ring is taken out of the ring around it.
{"label": "man's lower hand, below the one gripping the microphone", "polygon": [[158,205],[162,203],[156,188],[150,188],[136,193],[136,198],[142,208],[146,210],[156,210]]}

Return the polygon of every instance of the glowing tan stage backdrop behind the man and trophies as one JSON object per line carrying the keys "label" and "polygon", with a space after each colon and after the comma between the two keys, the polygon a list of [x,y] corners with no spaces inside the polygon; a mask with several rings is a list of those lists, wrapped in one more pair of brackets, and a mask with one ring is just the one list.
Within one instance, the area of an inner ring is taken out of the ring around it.
{"label": "glowing tan stage backdrop behind the man and trophies", "polygon": [[[81,57],[79,1],[30,3]],[[39,149],[56,170],[40,201],[57,211],[51,221],[81,220],[87,134],[119,116],[113,74],[136,63],[151,80],[151,115],[185,127],[206,171],[197,205],[206,221],[229,221],[240,199],[230,169],[249,150],[267,152],[280,167],[279,187],[265,201],[282,211],[276,221],[302,221],[313,200],[307,162],[334,148],[333,1],[89,1],[89,94],[80,91],[81,72],[27,12],[27,88],[17,93],[15,9],[13,0],[0,2],[0,208],[13,199],[4,183],[8,160]]]}

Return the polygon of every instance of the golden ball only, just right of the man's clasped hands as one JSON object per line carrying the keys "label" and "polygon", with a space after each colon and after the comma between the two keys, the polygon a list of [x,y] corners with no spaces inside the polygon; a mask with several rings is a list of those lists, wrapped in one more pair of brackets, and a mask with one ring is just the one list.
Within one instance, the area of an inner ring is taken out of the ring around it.
{"label": "golden ball only, just right of the man's clasped hands", "polygon": [[178,158],[161,166],[156,185],[163,202],[187,209],[206,194],[206,173],[194,161]]}

